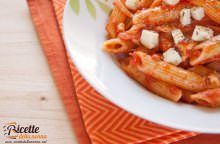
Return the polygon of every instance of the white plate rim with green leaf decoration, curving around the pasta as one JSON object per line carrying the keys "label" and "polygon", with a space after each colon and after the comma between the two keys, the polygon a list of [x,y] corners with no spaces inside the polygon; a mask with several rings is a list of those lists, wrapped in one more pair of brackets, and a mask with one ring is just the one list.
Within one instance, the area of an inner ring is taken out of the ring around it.
{"label": "white plate rim with green leaf decoration, curving around the pasta", "polygon": [[[78,70],[99,93],[121,108],[159,124],[183,130],[220,133],[220,109],[170,102],[127,77],[101,49],[108,15],[98,2],[104,3],[106,0],[78,0],[78,6],[76,1],[72,1],[72,7],[68,1],[65,7],[64,40]],[[110,4],[110,1],[106,2],[106,5]]]}

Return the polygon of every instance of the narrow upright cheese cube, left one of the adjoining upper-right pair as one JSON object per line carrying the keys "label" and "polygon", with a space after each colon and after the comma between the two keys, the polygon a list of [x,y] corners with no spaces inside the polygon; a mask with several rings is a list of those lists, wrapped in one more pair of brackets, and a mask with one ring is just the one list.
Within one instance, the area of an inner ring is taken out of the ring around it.
{"label": "narrow upright cheese cube, left one of the adjoining upper-right pair", "polygon": [[191,24],[191,12],[190,12],[190,9],[184,8],[184,9],[182,9],[180,11],[180,23],[183,26]]}

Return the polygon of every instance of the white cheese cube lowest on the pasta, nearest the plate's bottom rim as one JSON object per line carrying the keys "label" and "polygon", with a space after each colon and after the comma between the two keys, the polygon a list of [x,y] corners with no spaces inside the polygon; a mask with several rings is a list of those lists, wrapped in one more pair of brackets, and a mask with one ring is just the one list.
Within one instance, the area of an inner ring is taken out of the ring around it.
{"label": "white cheese cube lowest on the pasta, nearest the plate's bottom rim", "polygon": [[163,53],[163,60],[173,65],[179,65],[182,62],[181,56],[174,48],[170,48]]}

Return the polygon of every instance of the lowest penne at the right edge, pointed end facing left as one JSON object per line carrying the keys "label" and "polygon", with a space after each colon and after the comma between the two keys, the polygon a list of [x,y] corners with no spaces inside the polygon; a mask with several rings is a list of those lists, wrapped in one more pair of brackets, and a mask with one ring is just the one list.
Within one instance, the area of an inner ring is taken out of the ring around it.
{"label": "lowest penne at the right edge, pointed end facing left", "polygon": [[199,92],[191,95],[191,98],[196,103],[209,106],[219,107],[220,106],[220,88],[210,89],[203,92]]}

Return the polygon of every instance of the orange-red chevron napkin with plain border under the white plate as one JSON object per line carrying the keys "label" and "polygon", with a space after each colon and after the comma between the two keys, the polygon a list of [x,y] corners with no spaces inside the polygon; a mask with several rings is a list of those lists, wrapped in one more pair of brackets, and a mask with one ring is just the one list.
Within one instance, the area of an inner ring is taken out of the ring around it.
{"label": "orange-red chevron napkin with plain border under the white plate", "polygon": [[[80,144],[173,142],[180,144],[180,140],[198,135],[136,117],[106,100],[83,79],[68,58],[62,40],[62,14],[65,1],[27,0],[39,40],[78,142]],[[203,139],[204,136],[201,135],[201,138]],[[185,142],[190,144],[196,140],[198,139]],[[220,142],[220,139],[214,139],[214,142],[217,141]]]}

